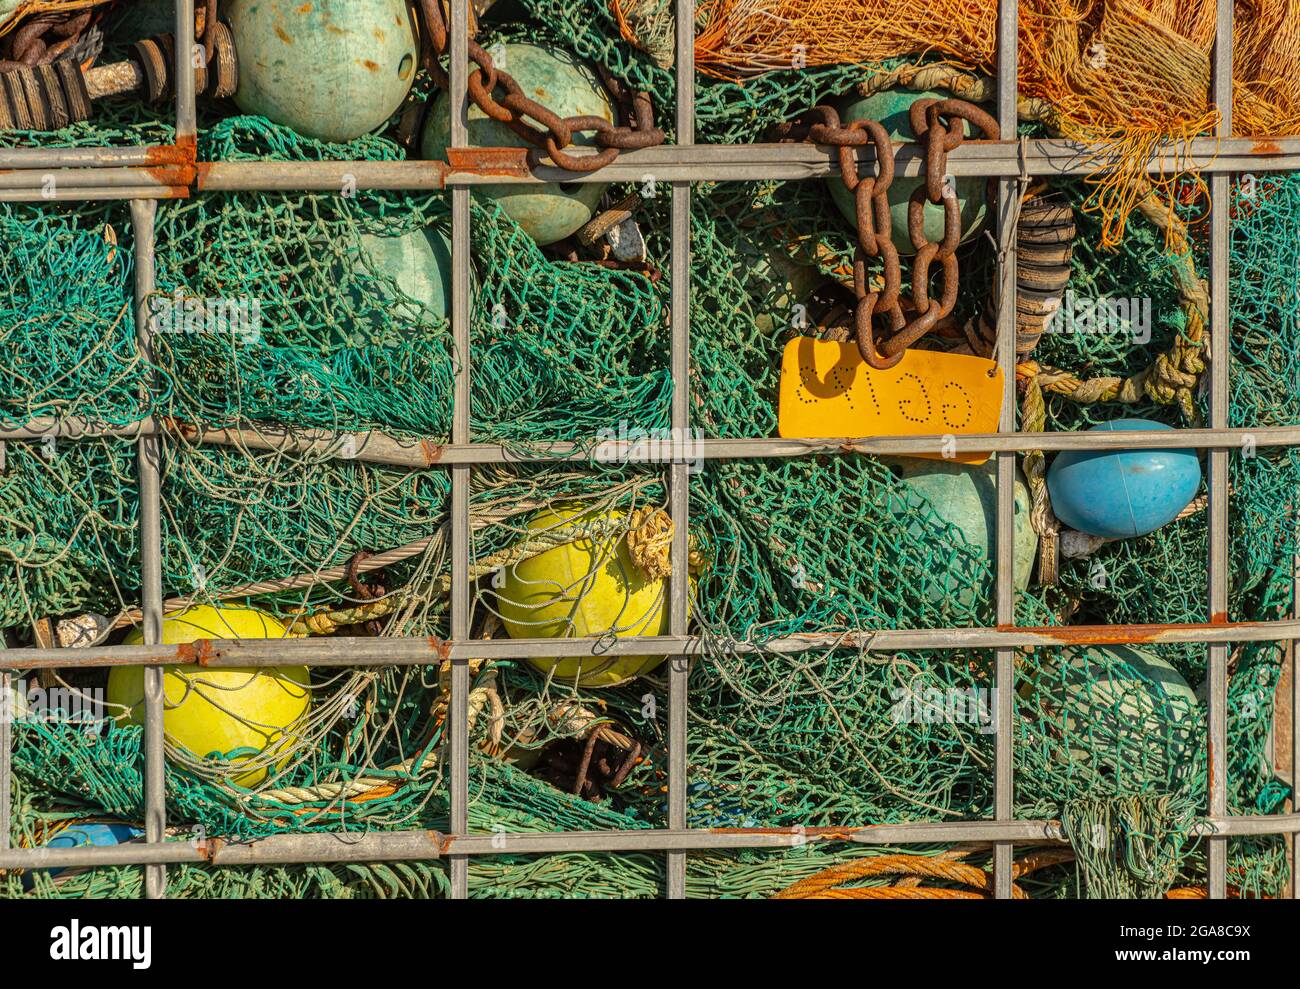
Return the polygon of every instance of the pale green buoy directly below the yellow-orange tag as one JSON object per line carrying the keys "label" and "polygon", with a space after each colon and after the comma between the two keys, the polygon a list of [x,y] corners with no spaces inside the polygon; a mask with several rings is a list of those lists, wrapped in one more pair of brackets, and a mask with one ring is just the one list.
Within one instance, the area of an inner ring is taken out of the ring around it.
{"label": "pale green buoy directly below the yellow-orange tag", "polygon": [[[902,483],[916,495],[939,519],[958,529],[966,542],[992,564],[997,552],[997,464],[989,460],[979,467],[958,464],[949,460],[919,460],[898,457],[902,468]],[[1015,587],[1030,586],[1034,560],[1039,548],[1039,537],[1030,524],[1030,489],[1024,476],[1015,472]],[[932,574],[935,580],[927,585],[931,602],[941,600],[942,573]],[[996,587],[989,577],[988,600],[993,600]],[[962,590],[958,602],[971,604],[971,591]]]}

